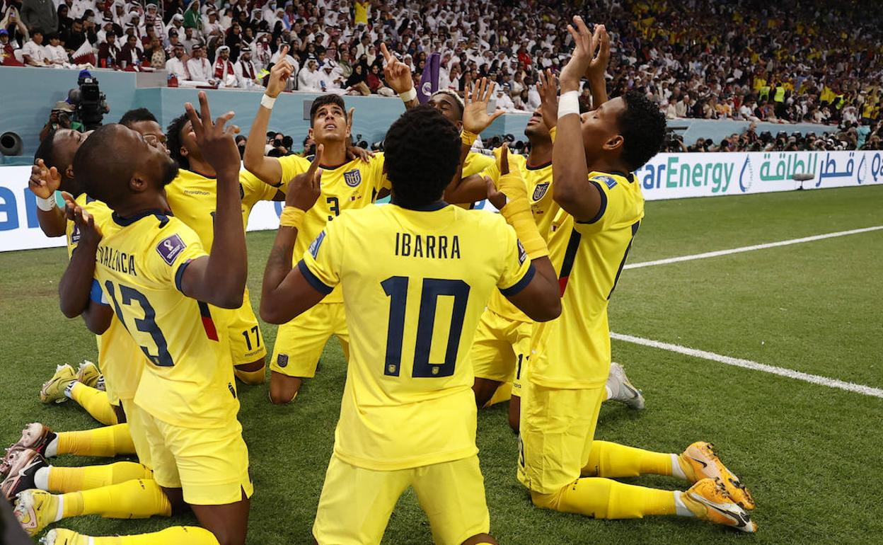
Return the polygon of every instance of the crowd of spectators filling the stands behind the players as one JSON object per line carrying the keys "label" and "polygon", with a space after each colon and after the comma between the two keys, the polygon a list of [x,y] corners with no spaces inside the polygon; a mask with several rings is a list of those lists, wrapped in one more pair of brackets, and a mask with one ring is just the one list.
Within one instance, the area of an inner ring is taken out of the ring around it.
{"label": "crowd of spectators filling the stands behind the players", "polygon": [[580,4],[611,34],[609,94],[642,89],[669,118],[871,125],[883,100],[883,11],[862,0],[147,2],[0,0],[4,64],[21,49],[33,66],[94,60],[165,68],[181,85],[249,88],[289,44],[291,90],[394,95],[385,42],[415,82],[437,52],[440,88],[489,77],[498,107],[530,111],[537,71],[567,60],[563,17]]}

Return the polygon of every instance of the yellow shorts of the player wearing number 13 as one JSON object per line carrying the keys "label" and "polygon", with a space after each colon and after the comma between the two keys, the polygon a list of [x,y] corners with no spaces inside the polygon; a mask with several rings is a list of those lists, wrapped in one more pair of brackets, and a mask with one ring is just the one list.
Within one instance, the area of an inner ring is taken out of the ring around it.
{"label": "yellow shorts of the player wearing number 13", "polygon": [[254,491],[248,448],[238,420],[223,428],[183,428],[147,414],[144,419],[154,481],[183,488],[192,505],[236,503]]}

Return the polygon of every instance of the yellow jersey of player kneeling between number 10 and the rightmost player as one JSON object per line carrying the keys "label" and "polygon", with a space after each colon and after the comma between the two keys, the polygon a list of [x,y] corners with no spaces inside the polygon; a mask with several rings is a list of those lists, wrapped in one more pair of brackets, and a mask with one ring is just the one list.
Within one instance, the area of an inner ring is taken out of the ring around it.
{"label": "yellow jersey of player kneeling between number 10 and the rightmost player", "polygon": [[[499,157],[502,148],[494,149],[494,154]],[[540,231],[542,238],[548,238],[549,227],[555,218],[555,213],[560,208],[558,203],[552,199],[552,163],[530,166],[524,155],[509,154],[509,163],[521,171],[521,178],[525,180],[527,186],[527,198],[531,201],[531,211],[533,213],[533,221],[537,224],[537,230]],[[500,167],[494,161],[487,170],[485,175],[494,180],[494,185],[500,181]],[[499,292],[495,292],[491,299],[487,302],[487,308],[494,313],[500,314],[509,320],[517,320],[519,322],[532,322],[527,315],[509,302]]]}

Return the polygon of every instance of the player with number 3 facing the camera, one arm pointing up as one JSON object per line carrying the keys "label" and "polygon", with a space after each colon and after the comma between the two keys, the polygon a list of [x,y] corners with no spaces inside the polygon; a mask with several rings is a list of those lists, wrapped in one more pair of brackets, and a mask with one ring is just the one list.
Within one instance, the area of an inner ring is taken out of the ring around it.
{"label": "player with number 3 facing the camera, one arm pointing up", "polygon": [[[245,168],[254,176],[283,191],[292,178],[305,172],[310,165],[308,159],[298,155],[264,155],[264,135],[275,98],[283,91],[290,75],[291,65],[286,61],[274,65],[243,157]],[[296,255],[303,254],[309,241],[343,210],[364,208],[373,203],[381,191],[389,188],[383,175],[383,154],[374,154],[367,161],[349,158],[351,126],[343,98],[320,96],[310,108],[310,120],[310,138],[315,140],[316,146],[321,144],[325,149],[320,165],[322,194],[316,205],[307,211],[303,236],[296,242]],[[315,375],[322,349],[332,335],[340,341],[343,355],[348,358],[350,337],[340,290],[329,293],[320,305],[278,329],[270,359],[270,400],[273,403],[286,404],[298,395],[303,379]]]}

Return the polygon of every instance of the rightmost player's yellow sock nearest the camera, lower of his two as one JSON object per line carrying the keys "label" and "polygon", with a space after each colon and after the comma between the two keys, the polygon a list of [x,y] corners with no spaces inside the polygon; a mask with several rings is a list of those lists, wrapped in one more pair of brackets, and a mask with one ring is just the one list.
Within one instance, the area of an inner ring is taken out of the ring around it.
{"label": "rightmost player's yellow sock nearest the camera, lower of his two", "polygon": [[532,499],[539,507],[595,519],[641,519],[645,515],[674,515],[676,493],[585,477],[555,494],[532,493]]}

